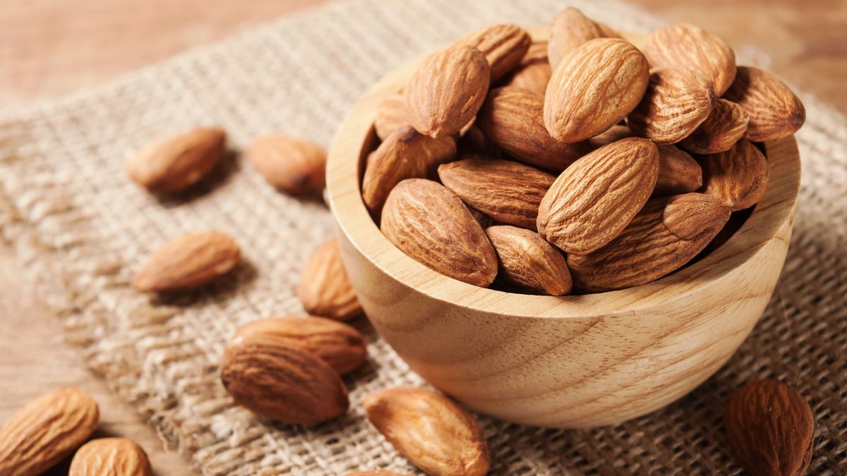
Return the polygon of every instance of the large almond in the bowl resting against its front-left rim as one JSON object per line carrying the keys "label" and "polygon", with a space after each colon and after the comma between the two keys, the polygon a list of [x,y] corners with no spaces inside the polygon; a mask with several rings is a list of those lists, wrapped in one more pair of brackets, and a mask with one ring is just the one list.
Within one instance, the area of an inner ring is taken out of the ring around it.
{"label": "large almond in the bowl resting against its front-left rim", "polygon": [[497,256],[485,232],[458,196],[431,180],[400,182],[380,228],[401,252],[440,274],[483,287],[494,281]]}

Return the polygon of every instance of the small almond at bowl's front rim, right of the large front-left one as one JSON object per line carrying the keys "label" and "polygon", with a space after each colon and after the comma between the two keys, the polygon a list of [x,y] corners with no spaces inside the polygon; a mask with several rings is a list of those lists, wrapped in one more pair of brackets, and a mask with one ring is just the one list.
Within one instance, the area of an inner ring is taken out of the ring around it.
{"label": "small almond at bowl's front rim, right of the large front-left one", "polygon": [[497,252],[499,276],[507,283],[534,294],[571,292],[573,281],[565,257],[538,233],[514,226],[492,226],[485,233]]}

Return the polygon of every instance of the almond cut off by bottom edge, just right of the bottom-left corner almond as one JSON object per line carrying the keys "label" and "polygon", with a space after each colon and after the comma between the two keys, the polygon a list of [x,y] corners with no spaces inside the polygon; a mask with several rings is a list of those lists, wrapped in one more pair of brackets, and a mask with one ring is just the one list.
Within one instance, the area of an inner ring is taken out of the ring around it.
{"label": "almond cut off by bottom edge, just right of the bottom-left corner almond", "polygon": [[133,440],[99,438],[76,451],[68,476],[152,476],[147,453]]}

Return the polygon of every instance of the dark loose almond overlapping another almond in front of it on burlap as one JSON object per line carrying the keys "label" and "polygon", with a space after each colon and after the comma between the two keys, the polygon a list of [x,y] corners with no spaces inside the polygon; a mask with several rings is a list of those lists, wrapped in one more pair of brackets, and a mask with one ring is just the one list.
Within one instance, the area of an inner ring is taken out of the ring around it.
{"label": "dark loose almond overlapping another almond in front of it on burlap", "polygon": [[239,405],[282,423],[318,423],[347,411],[335,369],[306,347],[247,334],[230,341],[220,379]]}

